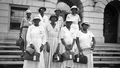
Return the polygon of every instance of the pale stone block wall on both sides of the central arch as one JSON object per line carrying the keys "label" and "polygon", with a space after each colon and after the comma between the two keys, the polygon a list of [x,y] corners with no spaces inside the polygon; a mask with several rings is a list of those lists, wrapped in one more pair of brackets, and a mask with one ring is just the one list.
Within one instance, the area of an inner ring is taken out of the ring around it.
{"label": "pale stone block wall on both sides of the central arch", "polygon": [[[104,43],[103,37],[103,18],[105,6],[112,0],[80,0],[80,13],[83,21],[88,21],[91,25],[90,30],[96,36],[97,43]],[[9,33],[10,4],[29,5],[33,15],[37,14],[38,8],[45,6],[47,15],[53,14],[57,0],[1,0],[0,1],[0,39],[5,39]],[[2,7],[4,6],[4,7]],[[17,37],[17,36],[16,36]]]}

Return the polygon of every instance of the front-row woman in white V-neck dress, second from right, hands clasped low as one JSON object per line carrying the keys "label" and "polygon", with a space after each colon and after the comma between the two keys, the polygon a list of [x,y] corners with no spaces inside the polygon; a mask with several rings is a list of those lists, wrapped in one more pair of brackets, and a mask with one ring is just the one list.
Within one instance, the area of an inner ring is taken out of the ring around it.
{"label": "front-row woman in white V-neck dress, second from right, hands clasped low", "polygon": [[[66,26],[61,29],[61,42],[63,45],[63,52],[72,51],[74,52],[74,43],[76,39],[76,33],[73,28],[71,28],[72,21],[66,21]],[[74,68],[73,60],[65,60],[63,61],[61,68]]]}

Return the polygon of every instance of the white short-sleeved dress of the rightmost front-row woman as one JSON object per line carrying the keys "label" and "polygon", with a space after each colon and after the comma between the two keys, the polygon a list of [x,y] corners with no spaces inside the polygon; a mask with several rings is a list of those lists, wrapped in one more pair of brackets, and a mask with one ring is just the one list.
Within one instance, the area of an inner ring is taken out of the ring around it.
{"label": "white short-sleeved dress of the rightmost front-row woman", "polygon": [[87,31],[87,33],[79,31],[77,37],[79,37],[80,47],[83,50],[83,54],[86,55],[88,58],[88,63],[75,63],[75,68],[93,68],[93,52],[89,48],[91,48],[92,37],[95,36],[91,31]]}

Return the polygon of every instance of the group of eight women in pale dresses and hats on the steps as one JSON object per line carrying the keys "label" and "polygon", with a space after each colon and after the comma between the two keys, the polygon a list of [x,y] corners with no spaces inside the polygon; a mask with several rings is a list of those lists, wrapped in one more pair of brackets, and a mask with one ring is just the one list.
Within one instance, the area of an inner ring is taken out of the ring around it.
{"label": "group of eight women in pale dresses and hats on the steps", "polygon": [[[77,14],[78,8],[71,7],[72,13],[68,14],[66,21],[59,15],[61,10],[55,10],[55,15],[48,18],[44,12],[45,7],[39,8],[39,14],[32,20],[31,11],[27,10],[22,20],[22,33],[26,41],[26,47],[33,44],[35,50],[40,53],[40,61],[24,60],[23,68],[93,68],[92,50],[95,47],[95,38],[92,32],[88,31],[87,22],[80,23],[81,19]],[[28,23],[27,25],[25,23]],[[25,26],[29,26],[28,29]],[[81,27],[81,29],[79,28]],[[68,47],[71,45],[71,47]],[[64,53],[70,50],[74,53],[83,52],[88,57],[87,64],[74,63],[72,60],[63,62],[53,62],[52,58],[55,52]]]}

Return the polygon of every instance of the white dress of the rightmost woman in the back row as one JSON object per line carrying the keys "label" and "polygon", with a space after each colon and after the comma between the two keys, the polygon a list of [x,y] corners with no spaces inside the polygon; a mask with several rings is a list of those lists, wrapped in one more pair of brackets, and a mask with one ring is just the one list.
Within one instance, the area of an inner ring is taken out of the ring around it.
{"label": "white dress of the rightmost woman in the back row", "polygon": [[66,20],[71,20],[73,21],[71,27],[74,28],[75,30],[79,30],[78,22],[81,21],[80,17],[78,14],[72,15],[68,14],[66,17]]}

